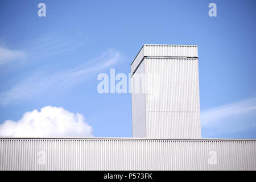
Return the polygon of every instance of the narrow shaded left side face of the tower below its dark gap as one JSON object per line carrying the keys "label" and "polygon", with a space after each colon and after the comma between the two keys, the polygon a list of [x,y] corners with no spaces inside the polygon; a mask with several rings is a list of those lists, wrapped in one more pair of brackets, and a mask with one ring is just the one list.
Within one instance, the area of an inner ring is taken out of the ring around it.
{"label": "narrow shaded left side face of the tower below its dark gap", "polygon": [[[144,73],[144,62],[139,65],[135,75],[131,78],[131,90],[133,94],[131,94],[131,112],[132,112],[132,120],[133,120],[133,137],[146,137],[146,107],[145,107],[145,93],[142,92],[144,90],[144,84],[142,79],[136,74]],[[141,80],[138,80],[141,79]],[[141,88],[139,88],[141,87]],[[137,90],[134,89],[138,89]]]}

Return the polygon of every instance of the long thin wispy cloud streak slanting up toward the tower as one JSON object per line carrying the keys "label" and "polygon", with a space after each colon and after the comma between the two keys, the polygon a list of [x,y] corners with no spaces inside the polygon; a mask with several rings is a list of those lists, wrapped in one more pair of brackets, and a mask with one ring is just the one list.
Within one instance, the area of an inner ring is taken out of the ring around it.
{"label": "long thin wispy cloud streak slanting up toward the tower", "polygon": [[92,73],[100,72],[121,60],[121,53],[114,49],[108,49],[101,56],[65,71],[48,74],[39,69],[30,77],[0,93],[0,104],[8,105],[16,100],[24,100],[42,94],[52,88],[72,86],[89,77]]}

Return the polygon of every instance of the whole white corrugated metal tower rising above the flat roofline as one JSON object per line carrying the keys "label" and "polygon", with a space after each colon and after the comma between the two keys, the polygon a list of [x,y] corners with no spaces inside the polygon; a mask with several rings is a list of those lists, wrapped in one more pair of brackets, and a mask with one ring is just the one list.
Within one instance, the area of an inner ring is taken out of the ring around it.
{"label": "whole white corrugated metal tower rising above the flat roofline", "polygon": [[133,137],[201,138],[197,46],[143,45],[131,73]]}

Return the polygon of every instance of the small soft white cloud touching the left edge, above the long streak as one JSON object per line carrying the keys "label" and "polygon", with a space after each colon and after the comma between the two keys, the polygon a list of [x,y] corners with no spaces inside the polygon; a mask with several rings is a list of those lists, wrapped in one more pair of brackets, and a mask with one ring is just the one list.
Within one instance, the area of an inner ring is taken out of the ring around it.
{"label": "small soft white cloud touching the left edge, above the long streak", "polygon": [[22,51],[10,50],[4,47],[0,47],[0,65],[22,59],[25,53]]}

